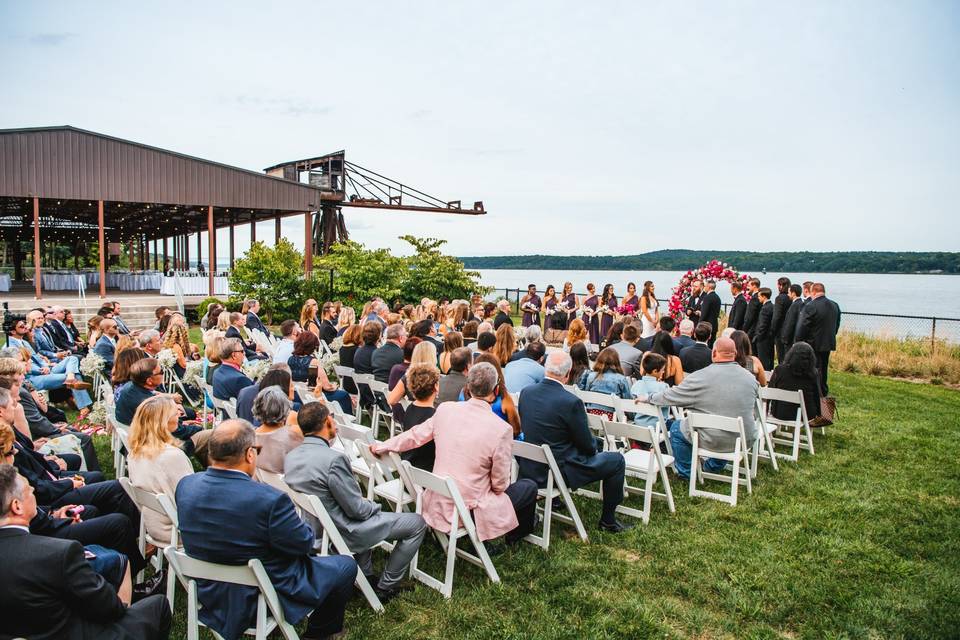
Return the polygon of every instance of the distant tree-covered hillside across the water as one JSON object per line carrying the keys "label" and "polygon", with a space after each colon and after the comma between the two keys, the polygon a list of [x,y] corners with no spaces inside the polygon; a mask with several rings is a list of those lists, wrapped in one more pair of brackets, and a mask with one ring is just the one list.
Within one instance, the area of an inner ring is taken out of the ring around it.
{"label": "distant tree-covered hillside across the water", "polygon": [[633,256],[477,256],[460,260],[469,269],[568,269],[681,271],[717,259],[740,271],[788,273],[960,273],[957,252],[894,251],[693,251],[664,249]]}

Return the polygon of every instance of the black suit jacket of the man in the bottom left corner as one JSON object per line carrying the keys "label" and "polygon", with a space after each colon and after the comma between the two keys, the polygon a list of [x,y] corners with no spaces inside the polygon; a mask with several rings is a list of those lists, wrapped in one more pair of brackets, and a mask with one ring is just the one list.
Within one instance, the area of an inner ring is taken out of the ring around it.
{"label": "black suit jacket of the man in the bottom left corner", "polygon": [[110,627],[127,609],[75,540],[0,529],[0,603],[3,637],[129,637]]}

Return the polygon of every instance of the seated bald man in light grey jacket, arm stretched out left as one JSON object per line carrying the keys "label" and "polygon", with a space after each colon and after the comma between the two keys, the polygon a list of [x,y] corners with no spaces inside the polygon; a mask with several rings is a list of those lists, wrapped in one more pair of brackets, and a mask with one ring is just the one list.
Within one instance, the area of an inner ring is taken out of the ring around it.
{"label": "seated bald man in light grey jacket, arm stretched out left", "polygon": [[[742,331],[738,333],[743,333]],[[745,334],[744,334],[745,335]],[[687,407],[697,413],[710,413],[730,418],[743,418],[743,430],[749,448],[757,439],[757,427],[753,420],[760,385],[737,361],[737,347],[730,338],[719,338],[713,345],[713,364],[706,369],[691,373],[683,382],[665,391],[650,396],[637,396],[641,402],[665,406]],[[733,451],[736,435],[727,431],[701,429],[700,445],[710,451]],[[690,478],[693,449],[690,445],[690,427],[686,420],[674,423],[670,429],[673,445],[674,469],[681,478]],[[726,466],[725,460],[708,458],[704,471],[716,473]]]}

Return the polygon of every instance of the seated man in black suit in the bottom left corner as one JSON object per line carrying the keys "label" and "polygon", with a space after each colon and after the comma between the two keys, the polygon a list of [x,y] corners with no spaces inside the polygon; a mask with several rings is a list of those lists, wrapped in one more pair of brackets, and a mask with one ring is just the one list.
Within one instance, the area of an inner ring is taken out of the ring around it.
{"label": "seated man in black suit in the bottom left corner", "polygon": [[127,606],[84,557],[83,546],[30,533],[37,516],[32,487],[0,464],[0,602],[4,637],[36,639],[167,638],[162,595]]}

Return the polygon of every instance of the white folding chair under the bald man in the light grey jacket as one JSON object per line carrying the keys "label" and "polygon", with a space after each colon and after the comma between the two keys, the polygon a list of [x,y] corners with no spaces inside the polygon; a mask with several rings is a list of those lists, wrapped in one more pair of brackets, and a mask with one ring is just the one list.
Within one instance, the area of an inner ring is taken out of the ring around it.
{"label": "white folding chair under the bald man in the light grey jacket", "polygon": [[[750,480],[750,457],[748,455],[749,445],[746,444],[747,437],[743,431],[743,418],[728,418],[726,416],[715,416],[706,413],[688,412],[687,420],[690,426],[692,438],[692,451],[690,454],[690,497],[700,496],[703,498],[712,498],[721,502],[726,502],[732,506],[737,506],[737,489],[741,484],[747,486],[747,493],[753,493],[753,484]],[[700,446],[700,431],[709,429],[713,431],[724,431],[734,435],[733,451],[711,451]],[[716,458],[726,460],[733,464],[733,470],[729,476],[722,473],[711,473],[703,471],[700,468],[700,458]],[[741,478],[741,474],[744,475]],[[714,493],[705,491],[697,487],[702,479],[719,480],[730,483],[730,494]]]}

